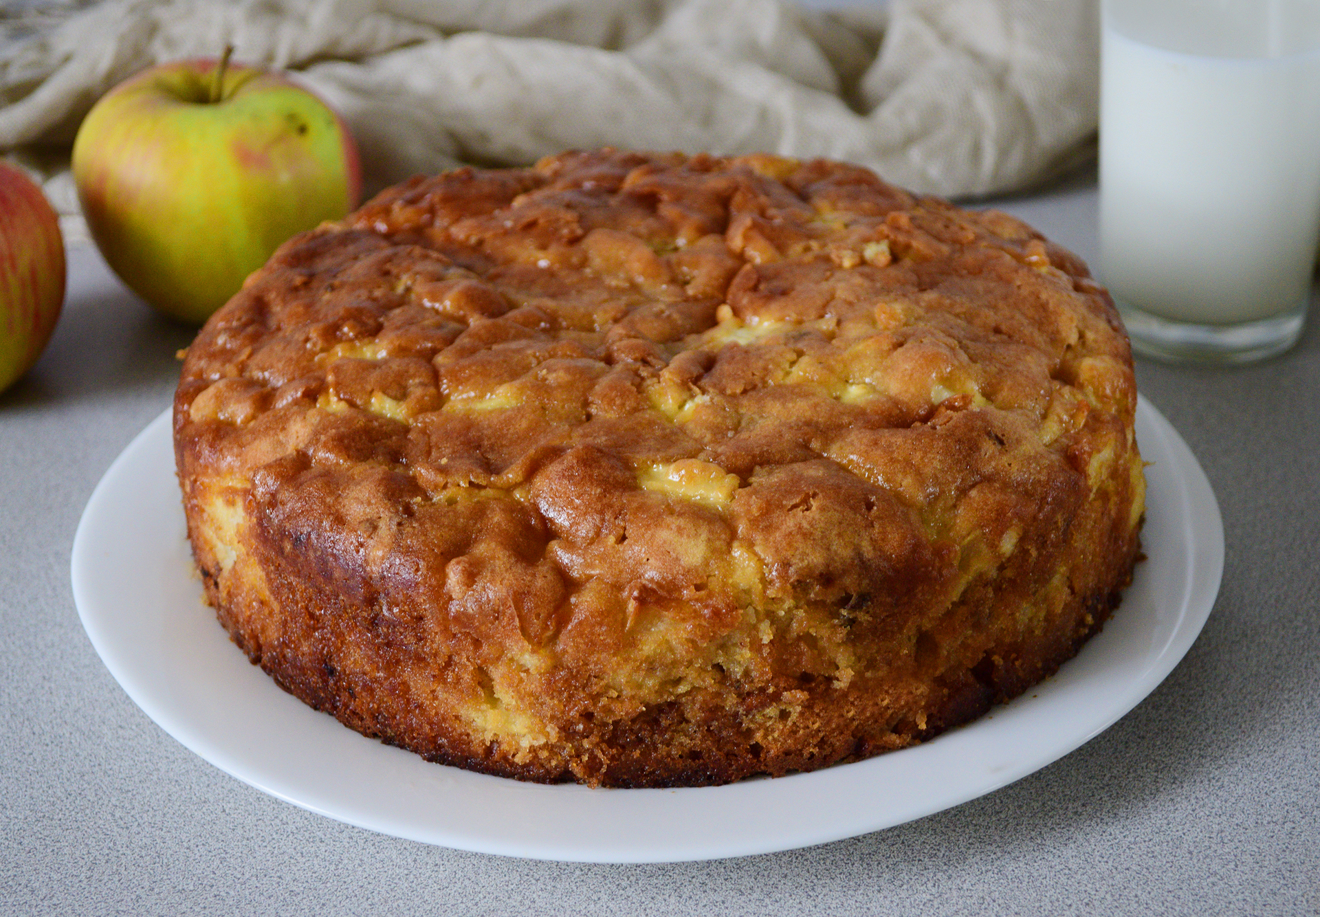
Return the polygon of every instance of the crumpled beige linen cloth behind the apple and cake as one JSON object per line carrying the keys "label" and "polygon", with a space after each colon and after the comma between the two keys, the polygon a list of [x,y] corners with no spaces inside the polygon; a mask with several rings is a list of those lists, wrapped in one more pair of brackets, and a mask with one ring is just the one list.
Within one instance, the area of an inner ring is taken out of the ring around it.
{"label": "crumpled beige linen cloth behind the apple and cake", "polygon": [[[153,63],[285,67],[346,117],[368,191],[570,148],[776,152],[974,197],[1088,154],[1094,0],[106,0],[0,13],[0,153],[77,214],[67,154]],[[63,9],[65,12],[58,12]],[[3,17],[8,16],[4,21]],[[66,220],[79,235],[77,219]]]}

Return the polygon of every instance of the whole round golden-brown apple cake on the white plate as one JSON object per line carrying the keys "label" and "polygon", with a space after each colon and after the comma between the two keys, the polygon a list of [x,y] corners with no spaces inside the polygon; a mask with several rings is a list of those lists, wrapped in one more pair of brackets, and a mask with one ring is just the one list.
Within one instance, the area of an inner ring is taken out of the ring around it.
{"label": "whole round golden-brown apple cake on the white plate", "polygon": [[928,739],[1131,578],[1131,352],[1085,265],[859,166],[565,153],[384,191],[174,401],[234,641],[367,736],[721,784]]}

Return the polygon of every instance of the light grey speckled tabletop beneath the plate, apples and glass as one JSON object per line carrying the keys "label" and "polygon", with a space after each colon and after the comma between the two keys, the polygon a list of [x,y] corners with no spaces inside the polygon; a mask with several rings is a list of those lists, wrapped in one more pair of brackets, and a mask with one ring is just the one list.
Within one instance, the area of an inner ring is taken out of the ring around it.
{"label": "light grey speckled tabletop beneath the plate, apples and glass", "polygon": [[[999,206],[1094,261],[1090,179]],[[78,621],[69,553],[102,474],[168,406],[190,332],[94,251],[70,267],[49,350],[0,396],[0,913],[1320,912],[1320,321],[1250,368],[1138,363],[1214,487],[1226,561],[1187,658],[1110,730],[990,796],[851,840],[581,866],[296,809],[194,756],[120,690]]]}

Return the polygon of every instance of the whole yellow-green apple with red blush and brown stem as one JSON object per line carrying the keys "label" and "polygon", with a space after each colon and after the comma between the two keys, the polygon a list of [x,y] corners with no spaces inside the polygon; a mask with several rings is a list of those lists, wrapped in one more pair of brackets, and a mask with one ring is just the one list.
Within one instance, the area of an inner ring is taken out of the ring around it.
{"label": "whole yellow-green apple with red blush and brown stem", "polygon": [[160,65],[106,94],[78,129],[73,170],[110,267],[193,323],[362,194],[356,144],[329,106],[277,74],[218,61]]}

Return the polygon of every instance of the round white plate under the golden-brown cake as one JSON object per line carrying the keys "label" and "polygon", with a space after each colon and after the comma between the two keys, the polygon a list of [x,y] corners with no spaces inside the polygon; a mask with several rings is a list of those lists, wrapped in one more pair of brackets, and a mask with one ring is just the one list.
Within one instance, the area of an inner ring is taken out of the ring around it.
{"label": "round white plate under the golden-brown cake", "polygon": [[1010,784],[1137,706],[1192,645],[1224,569],[1224,526],[1192,453],[1144,398],[1143,544],[1122,607],[1057,676],[924,745],[814,773],[665,790],[541,786],[428,764],[364,739],[248,664],[202,603],[169,412],[106,472],[73,552],[78,614],[111,674],[166,732],[294,805],[426,843],[510,856],[672,862],[866,834]]}

